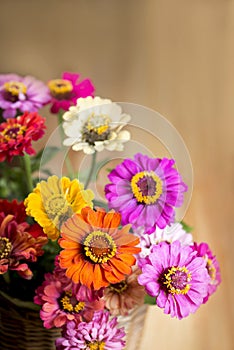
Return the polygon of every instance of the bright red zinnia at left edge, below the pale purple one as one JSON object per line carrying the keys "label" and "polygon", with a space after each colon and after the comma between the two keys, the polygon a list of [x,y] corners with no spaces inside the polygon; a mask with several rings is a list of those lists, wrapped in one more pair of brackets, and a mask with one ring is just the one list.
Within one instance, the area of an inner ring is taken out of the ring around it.
{"label": "bright red zinnia at left edge, below the pale purple one", "polygon": [[25,112],[16,118],[10,118],[0,124],[0,162],[10,161],[14,156],[23,156],[24,152],[33,155],[32,141],[44,135],[45,119],[36,112]]}

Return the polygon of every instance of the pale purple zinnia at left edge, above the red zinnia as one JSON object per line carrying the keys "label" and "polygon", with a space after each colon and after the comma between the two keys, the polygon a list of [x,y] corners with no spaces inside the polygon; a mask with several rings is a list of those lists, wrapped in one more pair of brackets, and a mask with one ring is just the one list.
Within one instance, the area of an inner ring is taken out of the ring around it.
{"label": "pale purple zinnia at left edge, above the red zinnia", "polygon": [[37,112],[51,100],[47,86],[31,76],[17,74],[0,75],[0,108],[3,117],[14,118],[17,114]]}

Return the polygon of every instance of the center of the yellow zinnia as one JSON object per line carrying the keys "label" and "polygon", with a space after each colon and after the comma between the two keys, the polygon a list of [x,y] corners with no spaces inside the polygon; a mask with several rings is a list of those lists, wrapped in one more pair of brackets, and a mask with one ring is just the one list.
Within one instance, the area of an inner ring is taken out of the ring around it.
{"label": "center of the yellow zinnia", "polygon": [[53,194],[43,201],[47,216],[57,228],[60,228],[73,214],[72,207],[63,194]]}

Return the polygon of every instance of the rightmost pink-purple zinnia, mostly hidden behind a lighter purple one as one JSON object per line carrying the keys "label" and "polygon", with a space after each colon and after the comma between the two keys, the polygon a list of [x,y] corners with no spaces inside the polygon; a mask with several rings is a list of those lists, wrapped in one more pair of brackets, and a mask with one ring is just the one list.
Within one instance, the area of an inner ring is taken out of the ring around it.
{"label": "rightmost pink-purple zinnia, mostly hidden behind a lighter purple one", "polygon": [[213,255],[207,243],[194,243],[194,249],[197,251],[197,256],[200,256],[205,259],[206,268],[210,276],[208,293],[203,300],[203,303],[206,303],[209,297],[216,291],[217,287],[221,283],[219,263],[216,259],[216,256]]}

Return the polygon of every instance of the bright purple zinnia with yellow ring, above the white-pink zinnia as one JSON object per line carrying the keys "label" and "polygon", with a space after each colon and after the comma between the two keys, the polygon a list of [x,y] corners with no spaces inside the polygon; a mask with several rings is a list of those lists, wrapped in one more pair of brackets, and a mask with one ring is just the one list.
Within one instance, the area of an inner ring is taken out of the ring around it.
{"label": "bright purple zinnia with yellow ring, above the white-pink zinnia", "polygon": [[145,233],[152,233],[156,226],[162,229],[175,221],[174,207],[182,205],[187,186],[174,164],[173,159],[138,153],[110,172],[106,198],[121,213],[123,225],[143,226]]}

